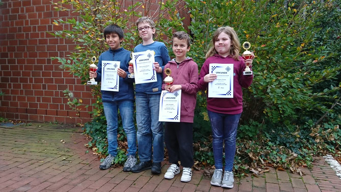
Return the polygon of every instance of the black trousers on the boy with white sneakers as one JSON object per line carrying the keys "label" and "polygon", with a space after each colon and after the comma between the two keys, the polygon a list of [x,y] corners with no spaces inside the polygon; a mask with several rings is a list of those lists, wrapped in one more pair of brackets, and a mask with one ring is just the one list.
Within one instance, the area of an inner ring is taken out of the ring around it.
{"label": "black trousers on the boy with white sneakers", "polygon": [[168,161],[191,168],[193,166],[193,123],[166,122],[164,139],[168,150]]}

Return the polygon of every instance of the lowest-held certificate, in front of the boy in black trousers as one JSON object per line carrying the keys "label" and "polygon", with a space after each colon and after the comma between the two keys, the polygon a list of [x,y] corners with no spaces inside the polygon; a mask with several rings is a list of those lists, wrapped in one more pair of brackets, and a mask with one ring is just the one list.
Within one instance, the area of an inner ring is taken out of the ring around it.
{"label": "lowest-held certificate, in front of the boy in black trousers", "polygon": [[168,92],[163,90],[160,97],[159,121],[180,122],[181,90]]}

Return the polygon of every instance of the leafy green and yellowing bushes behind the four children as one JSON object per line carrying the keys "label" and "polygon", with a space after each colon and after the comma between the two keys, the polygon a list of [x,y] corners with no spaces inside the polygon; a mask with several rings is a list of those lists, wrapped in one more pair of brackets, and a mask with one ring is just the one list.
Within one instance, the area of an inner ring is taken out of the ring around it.
{"label": "leafy green and yellowing bushes behind the four children", "polygon": [[[148,15],[156,23],[156,40],[169,48],[175,31],[184,31],[179,12],[189,10],[188,32],[192,37],[188,56],[201,68],[214,31],[232,26],[241,43],[249,41],[256,58],[253,62],[253,84],[243,91],[244,112],[237,139],[235,171],[240,174],[258,167],[289,168],[311,166],[312,156],[337,153],[341,144],[340,105],[340,29],[337,1],[165,1],[156,12],[149,3],[129,1],[86,0],[84,4],[64,0],[55,3],[56,10],[75,10],[81,19],[55,20],[55,25],[72,24],[54,35],[72,39],[77,50],[68,58],[54,58],[61,67],[88,79],[90,58],[108,47],[101,31],[109,23],[125,30],[123,46],[132,50],[140,43],[133,24],[139,16]],[[131,2],[130,2],[131,4]],[[243,50],[241,50],[242,52]],[[94,120],[84,129],[92,138],[89,146],[105,154],[105,118],[98,86],[93,86]],[[68,96],[68,94],[66,94]],[[79,100],[70,98],[77,108]],[[206,92],[199,92],[194,117],[195,159],[200,166],[214,164],[211,128],[206,111]],[[121,139],[124,141],[124,133]],[[122,146],[122,150],[125,146]],[[124,159],[124,151],[117,162]],[[198,167],[198,166],[196,166]]]}

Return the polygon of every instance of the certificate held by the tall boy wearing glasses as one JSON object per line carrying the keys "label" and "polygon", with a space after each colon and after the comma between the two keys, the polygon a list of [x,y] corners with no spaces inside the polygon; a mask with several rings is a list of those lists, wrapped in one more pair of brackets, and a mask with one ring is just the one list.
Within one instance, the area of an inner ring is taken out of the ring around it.
{"label": "certificate held by the tall boy wearing glasses", "polygon": [[145,84],[157,81],[153,64],[155,62],[154,55],[155,53],[153,50],[132,53],[135,84]]}

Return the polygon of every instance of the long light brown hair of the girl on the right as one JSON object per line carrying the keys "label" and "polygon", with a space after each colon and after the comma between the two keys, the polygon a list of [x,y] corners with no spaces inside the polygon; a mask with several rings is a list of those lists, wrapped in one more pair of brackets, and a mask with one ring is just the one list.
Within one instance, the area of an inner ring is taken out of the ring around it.
{"label": "long light brown hair of the girl on the right", "polygon": [[240,42],[239,42],[239,38],[237,36],[237,33],[235,32],[235,30],[233,28],[231,28],[231,26],[222,26],[221,28],[218,28],[214,32],[213,37],[212,37],[212,42],[210,45],[210,49],[206,53],[206,59],[214,56],[214,54],[218,54],[217,50],[215,50],[214,43],[217,40],[220,33],[225,33],[230,37],[231,48],[230,48],[229,55],[233,59],[239,61],[240,60],[240,58],[239,58]]}

